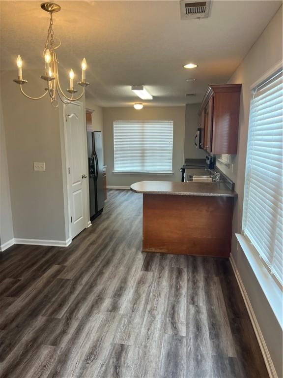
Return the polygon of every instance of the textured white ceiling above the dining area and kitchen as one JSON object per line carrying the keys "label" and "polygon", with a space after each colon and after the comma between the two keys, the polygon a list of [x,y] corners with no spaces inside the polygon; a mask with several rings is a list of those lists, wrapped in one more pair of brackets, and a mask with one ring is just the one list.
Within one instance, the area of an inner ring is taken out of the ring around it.
{"label": "textured white ceiling above the dining area and kitchen", "polygon": [[[144,85],[151,106],[200,102],[209,84],[225,83],[282,1],[214,0],[208,19],[180,19],[179,1],[59,1],[54,15],[61,75],[80,74],[87,61],[87,96],[101,106],[139,102]],[[0,1],[1,69],[43,67],[49,15],[41,1]],[[198,68],[184,69],[194,62]],[[196,78],[195,82],[186,82]],[[186,98],[187,93],[196,96]]]}

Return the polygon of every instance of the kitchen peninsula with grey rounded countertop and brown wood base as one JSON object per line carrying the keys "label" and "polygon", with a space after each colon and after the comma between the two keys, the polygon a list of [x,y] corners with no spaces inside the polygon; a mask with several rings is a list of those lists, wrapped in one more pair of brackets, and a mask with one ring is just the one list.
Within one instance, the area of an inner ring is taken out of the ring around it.
{"label": "kitchen peninsula with grey rounded countertop and brown wood base", "polygon": [[226,183],[142,181],[142,252],[229,257],[233,202]]}

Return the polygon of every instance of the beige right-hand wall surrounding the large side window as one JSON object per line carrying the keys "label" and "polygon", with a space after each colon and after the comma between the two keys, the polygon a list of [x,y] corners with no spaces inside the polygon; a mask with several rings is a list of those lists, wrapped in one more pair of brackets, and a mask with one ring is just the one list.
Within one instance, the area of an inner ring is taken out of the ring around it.
{"label": "beige right-hand wall surrounding the large side window", "polygon": [[233,220],[232,255],[237,269],[249,295],[257,321],[269,349],[278,377],[283,377],[282,371],[282,329],[264,296],[249,262],[241,250],[237,249],[235,233],[241,233],[243,214],[243,195],[245,181],[245,165],[247,152],[247,137],[249,126],[249,111],[251,90],[265,72],[282,60],[282,7],[271,20],[265,31],[260,35],[255,45],[236,69],[229,83],[242,83],[238,154],[232,158],[233,172],[219,165],[220,169],[231,177],[235,183],[238,200],[235,205]]}

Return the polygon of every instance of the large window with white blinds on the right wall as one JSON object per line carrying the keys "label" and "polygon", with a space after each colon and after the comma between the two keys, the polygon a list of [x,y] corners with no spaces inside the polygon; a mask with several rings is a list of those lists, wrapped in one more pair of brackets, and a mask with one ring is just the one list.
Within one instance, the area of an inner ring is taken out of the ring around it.
{"label": "large window with white blinds on the right wall", "polygon": [[283,75],[253,90],[247,147],[243,232],[283,284]]}

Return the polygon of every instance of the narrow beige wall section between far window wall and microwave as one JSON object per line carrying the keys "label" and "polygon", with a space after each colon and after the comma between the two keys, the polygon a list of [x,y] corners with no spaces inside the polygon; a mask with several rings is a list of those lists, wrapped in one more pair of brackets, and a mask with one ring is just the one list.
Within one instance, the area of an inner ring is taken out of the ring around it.
{"label": "narrow beige wall section between far window wall and microwave", "polygon": [[199,150],[195,146],[195,136],[199,127],[198,111],[200,104],[186,104],[186,122],[185,122],[185,158],[205,158],[206,152]]}

